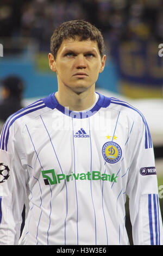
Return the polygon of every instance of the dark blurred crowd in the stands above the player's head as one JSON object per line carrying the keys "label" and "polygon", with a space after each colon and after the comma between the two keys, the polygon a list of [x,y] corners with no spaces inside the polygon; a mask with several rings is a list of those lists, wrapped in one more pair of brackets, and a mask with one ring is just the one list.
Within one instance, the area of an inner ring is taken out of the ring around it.
{"label": "dark blurred crowd in the stands above the player's head", "polygon": [[34,38],[48,51],[54,29],[75,19],[93,23],[108,43],[163,41],[163,0],[1,0],[0,37]]}

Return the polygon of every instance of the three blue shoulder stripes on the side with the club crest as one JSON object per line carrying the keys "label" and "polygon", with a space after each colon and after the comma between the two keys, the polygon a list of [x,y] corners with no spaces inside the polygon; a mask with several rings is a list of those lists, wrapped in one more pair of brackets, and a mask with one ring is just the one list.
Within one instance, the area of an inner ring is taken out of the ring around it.
{"label": "three blue shoulder stripes on the side with the club crest", "polygon": [[127,103],[125,101],[118,100],[114,97],[111,97],[111,103],[121,105],[124,107],[128,107],[130,109],[133,109],[134,111],[136,111],[137,113],[139,113],[141,115],[143,123],[145,125],[145,149],[152,148],[151,134],[149,132],[149,127],[148,127],[147,121],[146,121],[145,117],[143,116],[143,114],[137,108],[131,106],[129,103]]}

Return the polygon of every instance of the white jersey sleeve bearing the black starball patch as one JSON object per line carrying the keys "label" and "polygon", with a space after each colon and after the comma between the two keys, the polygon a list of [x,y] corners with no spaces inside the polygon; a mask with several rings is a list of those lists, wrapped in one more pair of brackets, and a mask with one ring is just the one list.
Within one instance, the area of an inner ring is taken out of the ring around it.
{"label": "white jersey sleeve bearing the black starball patch", "polygon": [[27,173],[19,130],[6,123],[0,138],[0,245],[17,245]]}

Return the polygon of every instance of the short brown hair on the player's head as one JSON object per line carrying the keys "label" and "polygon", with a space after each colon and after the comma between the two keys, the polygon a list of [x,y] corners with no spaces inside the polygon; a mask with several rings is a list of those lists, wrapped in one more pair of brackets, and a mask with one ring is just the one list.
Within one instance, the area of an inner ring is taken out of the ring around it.
{"label": "short brown hair on the player's head", "polygon": [[87,21],[73,20],[62,23],[55,29],[51,37],[51,53],[53,54],[54,59],[57,57],[57,52],[62,41],[70,38],[76,39],[76,37],[78,37],[80,41],[97,41],[99,53],[101,58],[103,57],[104,39],[99,29]]}

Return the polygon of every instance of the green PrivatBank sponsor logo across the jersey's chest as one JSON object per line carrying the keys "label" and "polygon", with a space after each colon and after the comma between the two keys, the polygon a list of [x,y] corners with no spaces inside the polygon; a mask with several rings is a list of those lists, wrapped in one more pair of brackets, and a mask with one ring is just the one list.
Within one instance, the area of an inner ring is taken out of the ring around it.
{"label": "green PrivatBank sponsor logo across the jersey's chest", "polygon": [[117,182],[117,176],[115,173],[113,174],[106,174],[97,171],[87,172],[87,173],[71,173],[69,175],[65,174],[55,174],[54,169],[51,170],[42,170],[42,177],[44,179],[45,185],[54,185],[60,183],[62,180],[67,182],[72,180],[103,180],[103,181],[110,181],[110,182]]}

